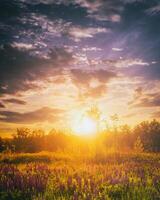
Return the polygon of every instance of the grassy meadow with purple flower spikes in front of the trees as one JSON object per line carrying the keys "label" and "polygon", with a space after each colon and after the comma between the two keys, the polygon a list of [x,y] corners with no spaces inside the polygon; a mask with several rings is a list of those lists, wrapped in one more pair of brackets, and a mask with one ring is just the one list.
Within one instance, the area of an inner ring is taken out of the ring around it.
{"label": "grassy meadow with purple flower spikes in front of the trees", "polygon": [[159,200],[160,154],[1,154],[1,200]]}

